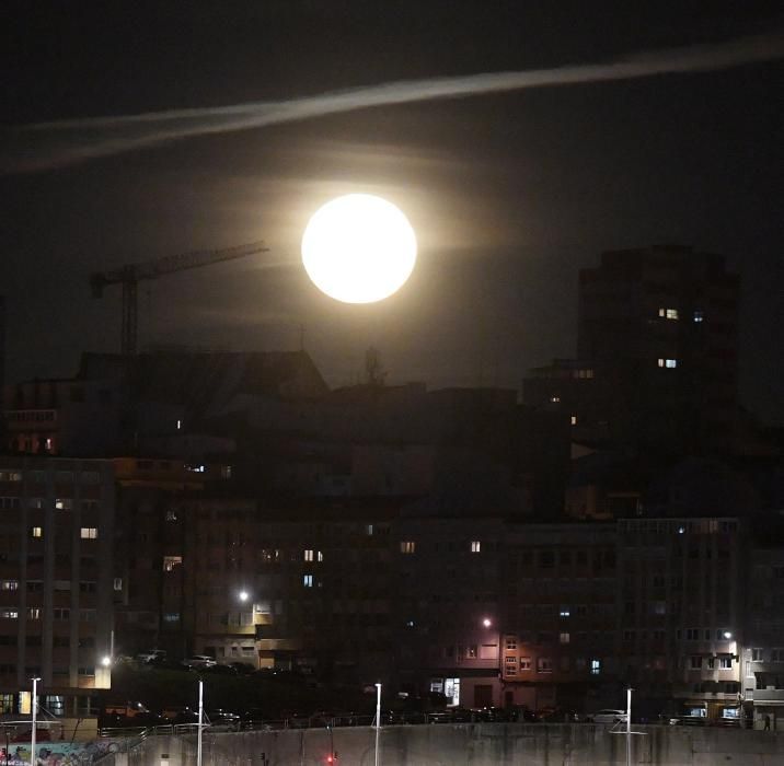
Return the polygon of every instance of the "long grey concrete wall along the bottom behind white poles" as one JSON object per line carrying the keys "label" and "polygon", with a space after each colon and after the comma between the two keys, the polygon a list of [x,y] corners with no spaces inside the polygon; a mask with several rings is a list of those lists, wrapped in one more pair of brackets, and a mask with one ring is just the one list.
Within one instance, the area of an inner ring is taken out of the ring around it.
{"label": "long grey concrete wall along the bottom behind white poles", "polygon": [[[650,766],[774,766],[784,763],[784,735],[775,732],[636,727],[632,763]],[[372,766],[373,729],[205,733],[205,766],[316,766],[331,746],[337,766]],[[380,732],[382,766],[621,766],[626,742],[610,727],[592,724],[436,724],[385,727]],[[164,757],[168,755],[168,758]],[[264,757],[263,757],[264,756]],[[102,762],[109,766],[109,761]],[[114,766],[195,766],[195,736],[155,736]]]}

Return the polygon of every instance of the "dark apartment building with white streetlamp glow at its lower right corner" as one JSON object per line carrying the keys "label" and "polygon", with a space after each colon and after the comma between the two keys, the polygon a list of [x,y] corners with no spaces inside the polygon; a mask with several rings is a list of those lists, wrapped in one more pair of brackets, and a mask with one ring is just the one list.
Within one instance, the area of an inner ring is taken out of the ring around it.
{"label": "dark apartment building with white streetlamp glow at its lower right corner", "polygon": [[672,713],[741,719],[747,541],[733,518],[618,522],[622,676]]}

